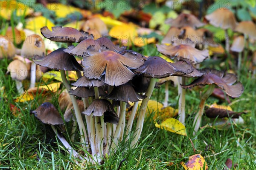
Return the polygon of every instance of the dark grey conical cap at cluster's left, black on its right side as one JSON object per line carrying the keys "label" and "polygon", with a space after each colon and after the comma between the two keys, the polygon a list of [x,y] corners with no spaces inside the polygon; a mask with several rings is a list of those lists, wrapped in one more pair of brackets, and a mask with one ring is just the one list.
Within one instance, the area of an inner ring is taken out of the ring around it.
{"label": "dark grey conical cap at cluster's left, black on its right side", "polygon": [[82,71],[82,66],[76,61],[76,58],[63,50],[64,48],[57,49],[47,56],[36,55],[33,61],[49,69]]}

